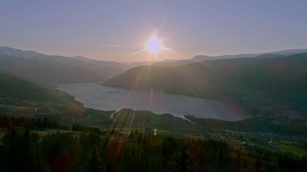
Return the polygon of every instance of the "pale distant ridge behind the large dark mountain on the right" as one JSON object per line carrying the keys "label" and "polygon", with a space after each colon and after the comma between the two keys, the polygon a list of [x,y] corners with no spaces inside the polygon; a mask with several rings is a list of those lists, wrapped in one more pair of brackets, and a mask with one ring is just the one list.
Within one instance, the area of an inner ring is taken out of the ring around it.
{"label": "pale distant ridge behind the large dark mountain on the right", "polygon": [[[152,63],[151,65],[165,66],[165,67],[176,67],[176,66],[187,65],[187,64],[190,64],[190,63],[201,62],[201,61],[206,61],[206,60],[218,60],[218,59],[227,59],[227,58],[247,58],[247,57],[257,57],[257,56],[260,56],[261,58],[278,57],[278,56],[287,56],[287,55],[292,55],[292,54],[299,54],[299,53],[304,53],[304,52],[307,52],[307,49],[290,49],[290,50],[281,50],[281,51],[277,51],[277,52],[267,52],[267,53],[260,53],[260,54],[237,54],[237,55],[222,55],[222,56],[196,55],[191,59],[176,60],[176,61],[173,61],[173,62],[162,61],[162,62]],[[270,55],[265,55],[265,54],[270,54]],[[261,56],[261,55],[263,55],[263,56]],[[260,58],[260,57],[258,57],[258,58]]]}

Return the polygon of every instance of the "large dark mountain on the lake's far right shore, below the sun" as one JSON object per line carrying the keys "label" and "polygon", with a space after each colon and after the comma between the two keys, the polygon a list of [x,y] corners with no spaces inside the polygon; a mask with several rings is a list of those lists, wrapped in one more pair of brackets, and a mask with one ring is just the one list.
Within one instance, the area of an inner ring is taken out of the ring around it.
{"label": "large dark mountain on the lake's far right shore, below the sun", "polygon": [[265,92],[294,99],[307,93],[306,66],[306,53],[276,58],[219,59],[178,67],[139,66],[102,85],[163,90],[209,99],[234,98],[239,95],[234,93],[236,91]]}

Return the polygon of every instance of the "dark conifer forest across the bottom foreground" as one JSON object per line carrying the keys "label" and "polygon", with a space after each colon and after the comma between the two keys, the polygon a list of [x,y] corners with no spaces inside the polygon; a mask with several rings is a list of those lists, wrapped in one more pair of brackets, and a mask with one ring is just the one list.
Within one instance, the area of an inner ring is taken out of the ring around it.
{"label": "dark conifer forest across the bottom foreground", "polygon": [[[76,126],[76,125],[75,125]],[[77,125],[78,126],[78,125]],[[298,171],[305,157],[261,149],[235,150],[226,142],[191,140],[115,130],[97,134],[19,132],[0,139],[1,171],[141,172],[141,171]],[[16,165],[18,162],[18,165]]]}

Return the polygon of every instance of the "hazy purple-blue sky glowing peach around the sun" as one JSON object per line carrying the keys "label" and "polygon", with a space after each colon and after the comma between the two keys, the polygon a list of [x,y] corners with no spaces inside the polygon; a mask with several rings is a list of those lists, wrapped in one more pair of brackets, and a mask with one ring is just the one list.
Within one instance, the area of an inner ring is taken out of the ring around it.
{"label": "hazy purple-blue sky glowing peach around the sun", "polygon": [[[2,0],[0,46],[116,62],[306,49],[306,8],[306,0]],[[143,49],[155,32],[167,49],[153,54]]]}

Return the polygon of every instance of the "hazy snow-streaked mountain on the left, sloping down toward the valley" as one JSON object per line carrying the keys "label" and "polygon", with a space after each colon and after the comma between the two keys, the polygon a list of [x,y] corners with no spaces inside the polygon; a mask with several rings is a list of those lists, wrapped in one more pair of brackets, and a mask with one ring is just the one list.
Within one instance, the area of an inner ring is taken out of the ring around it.
{"label": "hazy snow-streaked mountain on the left, sloping down toward the valley", "polygon": [[64,56],[0,47],[0,71],[40,84],[103,82],[125,70]]}

